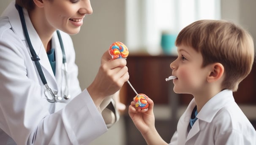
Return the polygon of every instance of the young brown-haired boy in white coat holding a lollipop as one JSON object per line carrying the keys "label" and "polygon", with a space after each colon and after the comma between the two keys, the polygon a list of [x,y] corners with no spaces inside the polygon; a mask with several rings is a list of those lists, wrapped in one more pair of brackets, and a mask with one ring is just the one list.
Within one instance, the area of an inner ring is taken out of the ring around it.
{"label": "young brown-haired boy in white coat holding a lollipop", "polygon": [[[174,92],[192,94],[169,145],[256,145],[256,131],[232,95],[250,73],[251,35],[222,20],[200,20],[185,27],[170,64]],[[148,145],[167,145],[155,129],[153,101],[148,110],[129,106],[129,115]]]}

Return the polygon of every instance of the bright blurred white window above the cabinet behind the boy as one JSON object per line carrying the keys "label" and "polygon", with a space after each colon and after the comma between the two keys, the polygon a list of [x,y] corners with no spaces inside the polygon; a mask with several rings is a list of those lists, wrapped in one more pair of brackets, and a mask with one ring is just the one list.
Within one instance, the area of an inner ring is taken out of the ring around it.
{"label": "bright blurred white window above the cabinet behind the boy", "polygon": [[220,19],[220,0],[126,0],[126,45],[131,53],[161,52],[163,31],[177,34],[200,19]]}

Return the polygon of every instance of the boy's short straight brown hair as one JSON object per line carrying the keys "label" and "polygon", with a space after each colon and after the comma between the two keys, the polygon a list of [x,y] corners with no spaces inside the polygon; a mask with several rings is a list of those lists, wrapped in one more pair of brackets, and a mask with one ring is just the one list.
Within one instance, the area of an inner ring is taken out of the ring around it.
{"label": "boy's short straight brown hair", "polygon": [[224,67],[223,89],[237,91],[251,72],[254,59],[253,38],[241,27],[225,20],[199,20],[177,36],[176,46],[190,46],[203,56],[202,67],[219,62]]}

